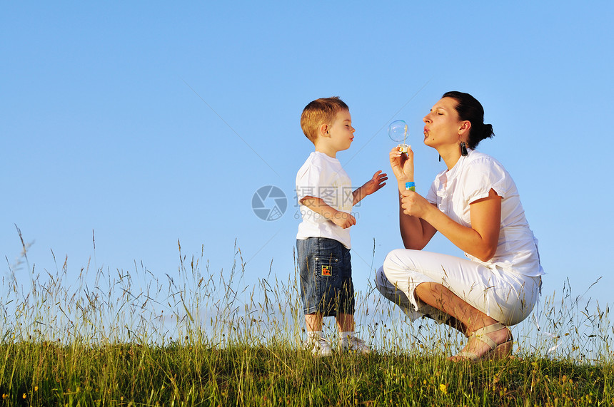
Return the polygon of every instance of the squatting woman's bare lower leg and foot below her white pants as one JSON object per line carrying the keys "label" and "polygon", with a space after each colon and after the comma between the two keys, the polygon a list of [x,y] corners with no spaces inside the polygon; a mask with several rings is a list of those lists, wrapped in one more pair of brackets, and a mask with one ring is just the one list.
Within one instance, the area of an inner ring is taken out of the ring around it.
{"label": "squatting woman's bare lower leg and foot below her white pants", "polygon": [[[441,309],[441,311],[455,318],[456,322],[460,323],[457,329],[460,328],[461,331],[465,329],[463,334],[467,336],[477,329],[498,322],[482,311],[479,311],[474,306],[464,302],[463,299],[460,299],[460,297],[442,284],[435,282],[421,283],[418,284],[415,292],[416,297],[422,302],[426,302],[426,304],[434,306],[436,309]],[[511,332],[509,329],[505,328],[492,332],[488,334],[488,336],[490,336],[490,339],[493,339],[495,343],[503,344],[503,342],[510,338]],[[469,351],[478,356],[485,354],[489,350],[488,344],[478,339],[470,339],[463,349],[463,351]]]}

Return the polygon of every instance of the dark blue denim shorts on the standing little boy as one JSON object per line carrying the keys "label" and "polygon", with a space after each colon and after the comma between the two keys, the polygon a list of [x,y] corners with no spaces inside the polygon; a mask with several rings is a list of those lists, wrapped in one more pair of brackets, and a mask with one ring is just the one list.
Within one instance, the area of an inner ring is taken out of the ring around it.
{"label": "dark blue denim shorts on the standing little boy", "polygon": [[335,239],[296,239],[305,314],[354,314],[350,250]]}

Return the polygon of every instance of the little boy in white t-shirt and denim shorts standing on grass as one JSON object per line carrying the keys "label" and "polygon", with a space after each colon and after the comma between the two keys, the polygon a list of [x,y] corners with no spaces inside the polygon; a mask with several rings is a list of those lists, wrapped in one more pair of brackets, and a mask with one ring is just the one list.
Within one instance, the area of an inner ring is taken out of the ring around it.
{"label": "little boy in white t-shirt and denim shorts standing on grass", "polygon": [[340,98],[321,98],[306,105],[301,128],[316,147],[296,175],[303,216],[296,248],[308,336],[305,346],[316,356],[331,356],[331,346],[322,336],[322,318],[334,315],[340,349],[368,353],[371,349],[354,336],[349,227],[356,225],[356,218],[350,211],[386,185],[388,177],[380,170],[365,185],[351,190],[351,180],[336,153],[350,148],[356,130],[348,105]]}

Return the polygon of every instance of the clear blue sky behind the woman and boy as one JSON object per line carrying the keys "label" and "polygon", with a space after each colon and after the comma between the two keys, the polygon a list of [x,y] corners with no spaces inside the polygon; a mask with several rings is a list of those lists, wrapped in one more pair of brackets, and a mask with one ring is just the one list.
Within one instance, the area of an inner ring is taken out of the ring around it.
{"label": "clear blue sky behind the woman and boy", "polygon": [[[569,279],[582,294],[602,277],[587,295],[610,301],[612,1],[0,8],[3,277],[21,252],[16,225],[43,274],[55,272],[55,254],[73,275],[91,262],[163,277],[178,270],[179,240],[212,274],[231,269],[236,242],[248,284],[269,271],[285,279],[295,272],[294,180],[313,150],[303,107],[325,96],[348,103],[356,138],[338,158],[356,186],[390,172],[386,128],[406,120],[426,194],[443,163],[421,142],[421,119],[458,90],[493,124],[478,150],[518,185],[544,293]],[[251,207],[266,185],[289,200],[269,222]],[[358,289],[401,247],[396,202],[388,184],[355,208]],[[459,254],[441,236],[427,249]]]}

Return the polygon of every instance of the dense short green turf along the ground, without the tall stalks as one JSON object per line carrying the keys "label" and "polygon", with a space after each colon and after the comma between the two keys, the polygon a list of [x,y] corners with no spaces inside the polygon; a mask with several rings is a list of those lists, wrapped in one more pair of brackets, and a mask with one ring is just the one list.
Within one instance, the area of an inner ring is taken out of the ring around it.
{"label": "dense short green turf along the ground, without the tall stalks", "polygon": [[5,404],[84,406],[609,406],[611,364],[336,354],[202,343],[0,347]]}

